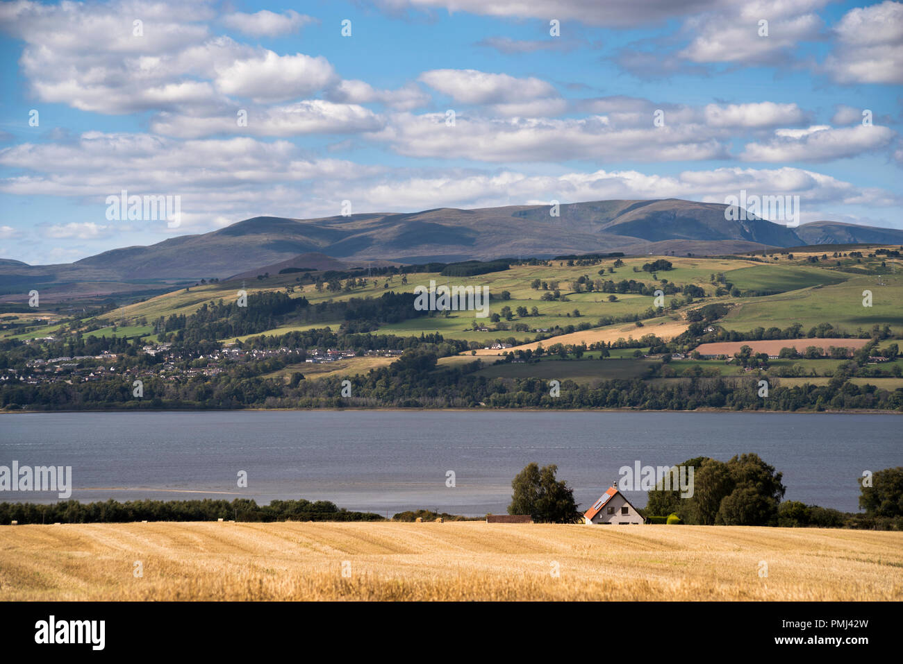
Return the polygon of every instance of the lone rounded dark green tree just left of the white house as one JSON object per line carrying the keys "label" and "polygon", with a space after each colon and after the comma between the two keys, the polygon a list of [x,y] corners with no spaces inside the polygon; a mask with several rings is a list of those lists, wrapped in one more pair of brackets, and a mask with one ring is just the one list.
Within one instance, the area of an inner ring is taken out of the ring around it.
{"label": "lone rounded dark green tree just left of the white house", "polygon": [[538,523],[573,523],[580,518],[573,489],[555,479],[558,466],[527,464],[511,482],[508,514],[529,514]]}

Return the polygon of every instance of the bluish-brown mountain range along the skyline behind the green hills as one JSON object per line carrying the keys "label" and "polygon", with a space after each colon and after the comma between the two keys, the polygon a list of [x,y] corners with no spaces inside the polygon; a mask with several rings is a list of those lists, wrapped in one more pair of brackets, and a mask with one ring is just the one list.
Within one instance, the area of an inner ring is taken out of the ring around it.
{"label": "bluish-brown mountain range along the skyline behind the green hills", "polygon": [[[729,220],[725,208],[665,198],[564,204],[558,216],[547,205],[532,205],[311,219],[253,217],[209,233],[113,249],[75,263],[0,260],[0,287],[11,292],[18,284],[223,279],[275,273],[279,265],[325,269],[325,259],[338,259],[332,266],[338,267],[610,251],[712,255],[806,244],[903,244],[903,230],[833,221],[791,228],[761,218]],[[123,289],[112,291],[117,290]]]}

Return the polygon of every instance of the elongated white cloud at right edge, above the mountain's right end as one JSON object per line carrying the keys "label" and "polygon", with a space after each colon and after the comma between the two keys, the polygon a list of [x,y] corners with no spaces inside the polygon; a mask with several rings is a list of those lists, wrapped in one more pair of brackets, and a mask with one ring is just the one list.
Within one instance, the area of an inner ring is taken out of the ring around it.
{"label": "elongated white cloud at right edge, above the mountain's right end", "polygon": [[889,127],[817,125],[775,132],[767,143],[747,143],[743,161],[827,161],[886,148],[897,135]]}

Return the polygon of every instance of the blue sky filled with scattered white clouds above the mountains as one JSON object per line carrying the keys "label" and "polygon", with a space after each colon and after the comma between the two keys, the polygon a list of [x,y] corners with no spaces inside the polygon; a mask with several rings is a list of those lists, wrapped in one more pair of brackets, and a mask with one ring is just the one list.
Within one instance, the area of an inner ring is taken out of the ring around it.
{"label": "blue sky filled with scattered white clouds above the mountains", "polygon": [[[257,216],[743,190],[903,228],[901,131],[889,0],[0,2],[0,258],[31,264]],[[116,218],[124,190],[177,222]]]}

